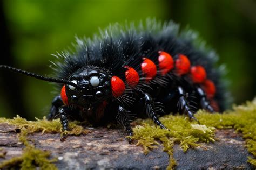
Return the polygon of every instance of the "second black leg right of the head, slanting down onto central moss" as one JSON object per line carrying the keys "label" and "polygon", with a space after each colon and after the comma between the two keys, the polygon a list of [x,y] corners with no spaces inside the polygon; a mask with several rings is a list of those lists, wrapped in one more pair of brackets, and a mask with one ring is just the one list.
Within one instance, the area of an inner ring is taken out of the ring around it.
{"label": "second black leg right of the head, slanting down onto central moss", "polygon": [[161,129],[167,129],[158,119],[156,108],[154,106],[154,101],[152,97],[145,93],[144,94],[144,100],[145,100],[145,107],[146,107],[146,114],[156,123],[158,126],[160,126]]}

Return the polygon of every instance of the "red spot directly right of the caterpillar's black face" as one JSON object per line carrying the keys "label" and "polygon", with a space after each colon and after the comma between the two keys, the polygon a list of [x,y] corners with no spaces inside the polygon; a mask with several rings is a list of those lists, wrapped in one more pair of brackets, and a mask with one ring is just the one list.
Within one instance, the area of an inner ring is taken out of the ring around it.
{"label": "red spot directly right of the caterpillar's black face", "polygon": [[125,83],[117,76],[111,78],[111,88],[114,97],[121,96],[125,90]]}

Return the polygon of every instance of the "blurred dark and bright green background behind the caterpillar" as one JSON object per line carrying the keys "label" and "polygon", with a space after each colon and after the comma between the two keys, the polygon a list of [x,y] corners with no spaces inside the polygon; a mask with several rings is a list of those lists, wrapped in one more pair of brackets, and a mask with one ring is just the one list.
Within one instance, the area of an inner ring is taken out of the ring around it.
{"label": "blurred dark and bright green background behind the caterpillar", "polygon": [[[9,1],[1,2],[1,60],[49,75],[50,54],[71,47],[75,36],[92,37],[110,23],[148,17],[189,25],[225,63],[234,103],[255,96],[256,2],[219,1]],[[0,116],[34,119],[48,114],[54,88],[48,82],[0,72]]]}

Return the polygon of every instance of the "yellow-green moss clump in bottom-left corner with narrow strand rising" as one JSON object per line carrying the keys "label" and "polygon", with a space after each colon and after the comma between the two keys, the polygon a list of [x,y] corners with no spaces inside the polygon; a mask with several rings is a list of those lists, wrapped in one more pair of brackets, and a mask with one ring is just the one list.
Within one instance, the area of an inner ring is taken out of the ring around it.
{"label": "yellow-green moss clump in bottom-left corner with narrow strand rising", "polygon": [[25,128],[22,128],[19,134],[19,141],[25,145],[23,154],[19,157],[3,161],[2,164],[0,164],[0,169],[11,167],[20,167],[21,169],[36,169],[37,167],[40,169],[57,169],[53,164],[57,159],[49,160],[50,152],[35,148],[35,146],[30,144],[26,139],[27,134],[28,132]]}

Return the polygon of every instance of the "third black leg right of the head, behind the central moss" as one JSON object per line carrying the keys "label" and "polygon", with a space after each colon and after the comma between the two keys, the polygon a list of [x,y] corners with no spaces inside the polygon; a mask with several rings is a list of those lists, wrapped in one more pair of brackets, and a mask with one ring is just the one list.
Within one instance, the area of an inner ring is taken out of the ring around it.
{"label": "third black leg right of the head, behind the central moss", "polygon": [[189,104],[188,104],[188,101],[185,97],[186,93],[183,90],[183,88],[180,87],[180,86],[178,86],[178,95],[179,95],[179,99],[178,99],[178,109],[179,109],[179,111],[184,112],[184,114],[187,114],[190,118],[197,121],[197,119],[194,117],[194,113],[191,111],[191,109],[189,107]]}

